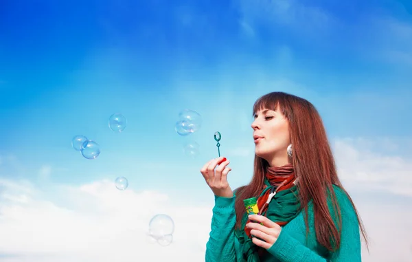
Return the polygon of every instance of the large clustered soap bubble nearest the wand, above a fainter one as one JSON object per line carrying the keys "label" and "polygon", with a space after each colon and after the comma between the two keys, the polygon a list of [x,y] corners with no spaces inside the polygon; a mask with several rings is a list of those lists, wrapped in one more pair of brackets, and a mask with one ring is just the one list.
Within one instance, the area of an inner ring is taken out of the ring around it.
{"label": "large clustered soap bubble nearest the wand, above a fainter one", "polygon": [[185,109],[179,113],[179,119],[176,122],[175,130],[179,135],[188,135],[201,129],[201,115],[190,109]]}

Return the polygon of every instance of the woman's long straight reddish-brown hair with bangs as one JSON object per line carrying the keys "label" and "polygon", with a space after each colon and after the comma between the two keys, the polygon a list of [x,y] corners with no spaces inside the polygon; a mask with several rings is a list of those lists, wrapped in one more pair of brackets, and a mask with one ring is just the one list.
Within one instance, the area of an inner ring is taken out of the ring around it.
{"label": "woman's long straight reddish-brown hair with bangs", "polygon": [[[299,177],[299,199],[304,207],[306,233],[308,233],[308,203],[312,200],[314,227],[317,241],[330,251],[339,249],[342,219],[332,185],[339,186],[352,202],[367,245],[367,234],[352,198],[343,188],[336,171],[336,164],[328,142],[321,116],[308,100],[272,92],[260,97],[253,105],[253,115],[261,109],[280,111],[289,122],[290,140],[293,146],[292,163]],[[236,228],[240,228],[244,216],[243,199],[258,197],[264,186],[264,173],[268,162],[255,155],[253,177],[247,186],[236,190]],[[328,208],[328,193],[332,198],[334,215],[338,217],[336,227]],[[332,243],[331,243],[332,242]]]}

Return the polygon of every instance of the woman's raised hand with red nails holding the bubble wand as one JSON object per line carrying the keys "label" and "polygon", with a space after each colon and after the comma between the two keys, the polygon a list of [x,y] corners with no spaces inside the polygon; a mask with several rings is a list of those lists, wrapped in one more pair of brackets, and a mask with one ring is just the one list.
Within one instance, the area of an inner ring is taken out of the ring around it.
{"label": "woman's raised hand with red nails holding the bubble wand", "polygon": [[233,197],[233,191],[227,182],[227,173],[231,171],[228,164],[226,157],[218,157],[207,162],[201,169],[207,185],[219,197]]}

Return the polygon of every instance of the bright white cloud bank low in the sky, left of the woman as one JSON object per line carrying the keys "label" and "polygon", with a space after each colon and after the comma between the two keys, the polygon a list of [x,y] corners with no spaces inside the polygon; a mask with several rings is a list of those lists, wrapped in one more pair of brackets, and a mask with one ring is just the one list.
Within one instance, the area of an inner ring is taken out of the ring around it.
{"label": "bright white cloud bank low in the sky, left of the woman", "polygon": [[[70,261],[67,255],[76,261],[174,261],[183,255],[201,261],[204,257],[211,206],[174,204],[174,199],[156,192],[119,191],[108,181],[78,188],[57,186],[51,195],[25,184],[0,181],[0,231],[8,236],[0,239],[0,254],[22,255],[3,261],[25,261],[24,256]],[[66,204],[55,201],[61,197]],[[174,241],[168,247],[146,235],[157,213],[174,219]]]}

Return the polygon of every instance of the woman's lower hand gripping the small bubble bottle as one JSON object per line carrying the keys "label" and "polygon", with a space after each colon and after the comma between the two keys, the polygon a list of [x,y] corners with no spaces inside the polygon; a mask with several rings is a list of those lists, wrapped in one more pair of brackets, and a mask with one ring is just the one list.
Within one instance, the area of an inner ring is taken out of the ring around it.
{"label": "woman's lower hand gripping the small bubble bottle", "polygon": [[[249,219],[258,222],[249,222],[246,224],[246,227],[251,229],[253,243],[266,250],[271,248],[279,237],[280,231],[282,230],[281,226],[262,215],[249,215]],[[263,223],[263,225],[260,223]],[[256,237],[259,237],[263,241]]]}

